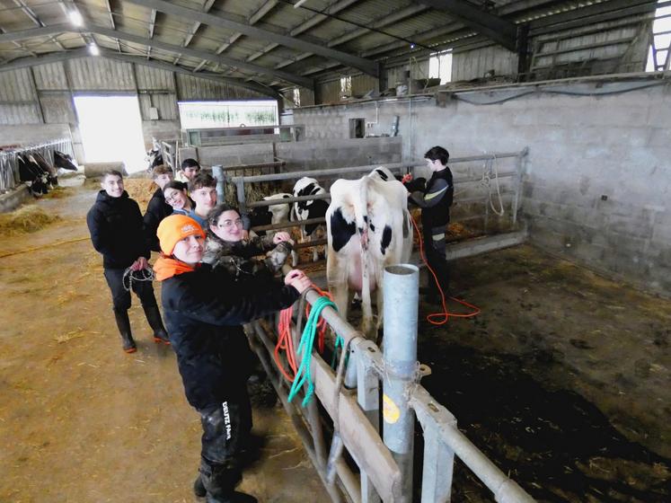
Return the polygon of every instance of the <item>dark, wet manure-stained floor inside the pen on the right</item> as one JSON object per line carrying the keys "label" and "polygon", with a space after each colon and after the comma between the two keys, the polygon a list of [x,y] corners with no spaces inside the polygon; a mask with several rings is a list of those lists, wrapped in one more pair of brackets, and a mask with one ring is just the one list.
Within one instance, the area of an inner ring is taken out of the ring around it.
{"label": "dark, wet manure-stained floor inside the pen on the right", "polygon": [[[422,304],[419,359],[464,433],[539,501],[671,501],[671,301],[526,245],[453,279],[482,313]],[[453,500],[493,499],[457,464]]]}

